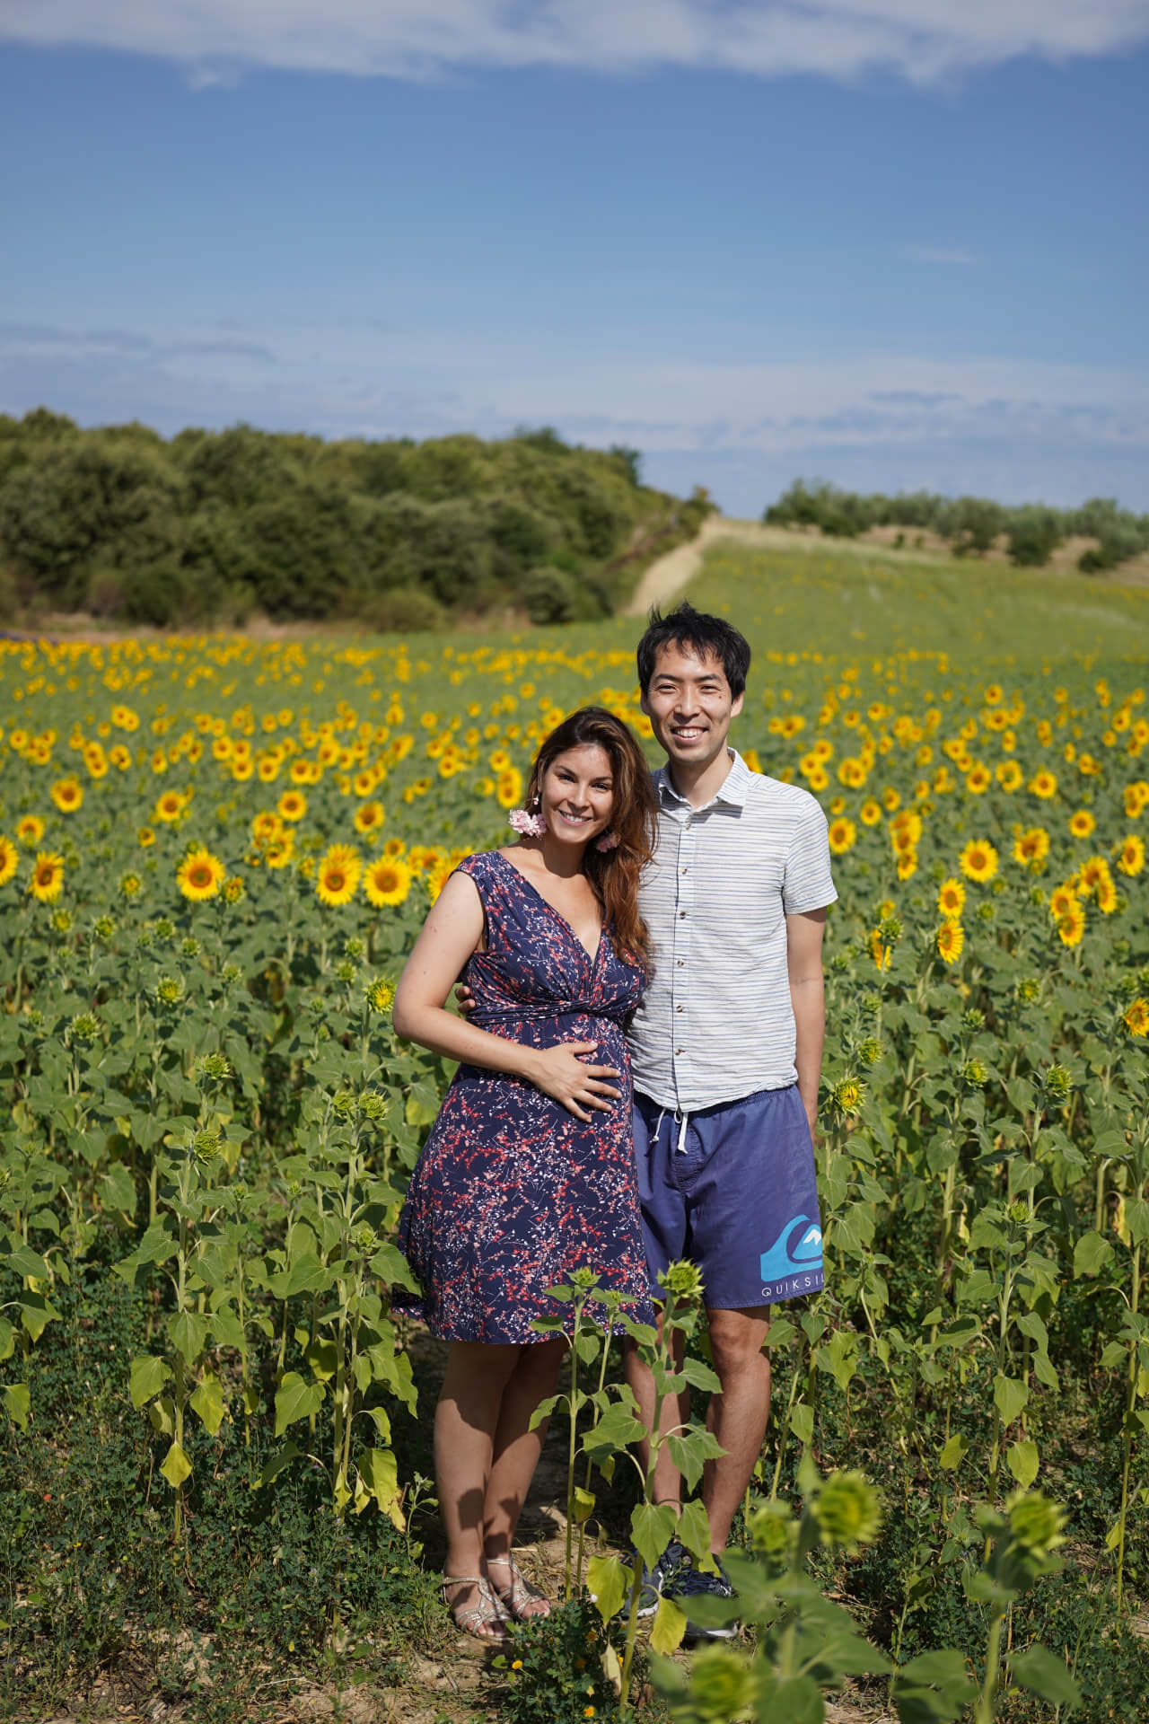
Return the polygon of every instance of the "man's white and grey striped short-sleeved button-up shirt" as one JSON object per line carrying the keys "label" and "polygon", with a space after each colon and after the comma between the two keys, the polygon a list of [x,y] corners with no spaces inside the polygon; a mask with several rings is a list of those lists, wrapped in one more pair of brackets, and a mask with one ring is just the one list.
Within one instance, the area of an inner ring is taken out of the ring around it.
{"label": "man's white and grey striped short-sleeved button-up shirt", "polygon": [[705,809],[655,772],[653,976],[629,1041],[634,1088],[679,1114],[796,1083],[786,917],[837,898],[817,800],[730,757]]}

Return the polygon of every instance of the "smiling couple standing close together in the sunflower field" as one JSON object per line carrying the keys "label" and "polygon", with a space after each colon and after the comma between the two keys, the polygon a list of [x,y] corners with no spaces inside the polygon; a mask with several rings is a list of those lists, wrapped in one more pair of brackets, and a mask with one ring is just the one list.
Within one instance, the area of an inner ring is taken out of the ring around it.
{"label": "smiling couple standing close together in the sunflower field", "polygon": [[[550,1610],[512,1552],[546,1434],[531,1414],[567,1348],[531,1327],[570,1321],[546,1288],[591,1267],[649,1322],[660,1271],[698,1265],[724,1450],[703,1502],[722,1553],[770,1410],[770,1305],[822,1286],[813,1124],[835,891],[815,798],[727,746],[748,667],[720,617],[653,612],[637,671],[667,765],[651,776],[601,707],[565,719],[512,815],[520,841],[460,864],[396,993],[398,1033],[460,1062],[400,1222],[422,1298],[396,1305],[451,1343],[434,1427],[443,1590],[481,1640]],[[446,1010],[460,972],[465,1019]],[[625,1369],[649,1427],[634,1348]],[[655,1498],[680,1491],[663,1445]],[[682,1557],[665,1553],[653,1593],[730,1595],[720,1569]]]}

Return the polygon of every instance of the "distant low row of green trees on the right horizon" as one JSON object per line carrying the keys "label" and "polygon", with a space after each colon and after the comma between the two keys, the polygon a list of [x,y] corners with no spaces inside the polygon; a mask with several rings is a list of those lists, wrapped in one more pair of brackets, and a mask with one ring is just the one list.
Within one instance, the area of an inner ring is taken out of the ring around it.
{"label": "distant low row of green trees on the right horizon", "polygon": [[763,521],[817,526],[837,538],[885,526],[935,533],[956,557],[984,557],[1004,538],[1009,559],[1028,567],[1047,564],[1066,538],[1092,538],[1097,543],[1078,559],[1085,574],[1116,569],[1149,550],[1149,515],[1120,509],[1111,497],[1094,497],[1080,509],[1006,507],[985,497],[937,497],[932,491],[866,497],[820,479],[796,479],[777,503],[770,503]]}

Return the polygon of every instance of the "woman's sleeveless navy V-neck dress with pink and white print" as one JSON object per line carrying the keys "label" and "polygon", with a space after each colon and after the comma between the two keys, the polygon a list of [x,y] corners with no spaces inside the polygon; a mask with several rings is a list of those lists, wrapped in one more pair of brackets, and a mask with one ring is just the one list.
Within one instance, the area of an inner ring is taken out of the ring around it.
{"label": "woman's sleeveless navy V-neck dress with pink and white print", "polygon": [[460,872],[486,914],[486,950],[463,972],[470,1022],[536,1048],[596,1041],[584,1059],[622,1072],[620,1095],[587,1124],[522,1078],[460,1065],[400,1217],[422,1298],[396,1288],[394,1305],[446,1340],[539,1341],[536,1317],[570,1324],[570,1305],[546,1288],[591,1267],[632,1295],[627,1315],[651,1322],[624,1036],[643,971],[615,955],[606,931],[591,959],[498,850],[467,857]]}

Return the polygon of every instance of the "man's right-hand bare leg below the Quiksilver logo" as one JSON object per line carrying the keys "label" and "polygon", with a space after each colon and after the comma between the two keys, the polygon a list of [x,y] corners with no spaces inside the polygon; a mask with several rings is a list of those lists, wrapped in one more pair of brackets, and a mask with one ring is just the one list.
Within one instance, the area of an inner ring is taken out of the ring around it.
{"label": "man's right-hand bare leg below the Quiksilver logo", "polygon": [[706,1426],[725,1453],[706,1462],[703,1503],[710,1517],[710,1548],[722,1555],[770,1417],[770,1355],[763,1352],[770,1307],[708,1310],[706,1319],[710,1353],[722,1383],[722,1393],[710,1396]]}

